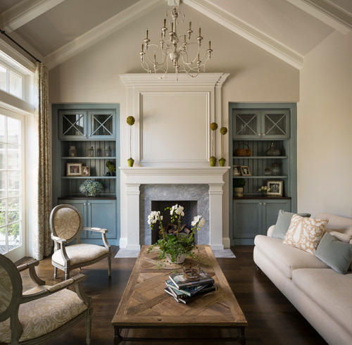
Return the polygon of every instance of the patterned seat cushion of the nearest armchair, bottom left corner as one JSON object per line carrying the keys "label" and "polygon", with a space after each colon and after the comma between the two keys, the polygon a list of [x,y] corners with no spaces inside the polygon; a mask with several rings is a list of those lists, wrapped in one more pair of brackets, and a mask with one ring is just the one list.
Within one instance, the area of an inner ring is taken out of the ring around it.
{"label": "patterned seat cushion of the nearest armchair, bottom left corner", "polygon": [[[20,342],[53,332],[87,309],[77,294],[68,289],[20,304],[18,317],[23,325]],[[10,318],[0,322],[0,342],[11,343]]]}

